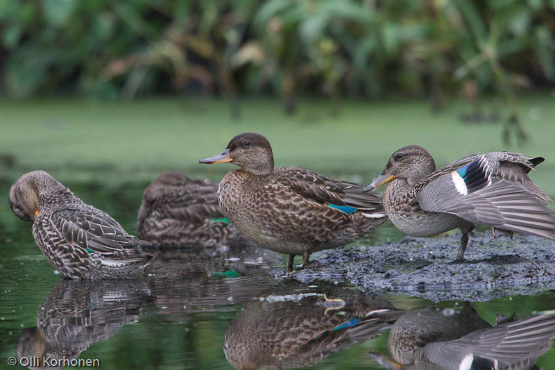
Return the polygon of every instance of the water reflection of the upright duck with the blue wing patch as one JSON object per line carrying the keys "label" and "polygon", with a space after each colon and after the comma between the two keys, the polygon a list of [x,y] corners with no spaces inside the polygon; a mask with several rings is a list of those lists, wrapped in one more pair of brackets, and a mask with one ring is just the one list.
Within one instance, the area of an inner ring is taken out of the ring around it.
{"label": "water reflection of the upright duck with the blue wing patch", "polygon": [[363,294],[344,290],[339,296],[345,301],[270,296],[248,303],[225,333],[225,358],[236,369],[308,367],[378,337],[402,313]]}

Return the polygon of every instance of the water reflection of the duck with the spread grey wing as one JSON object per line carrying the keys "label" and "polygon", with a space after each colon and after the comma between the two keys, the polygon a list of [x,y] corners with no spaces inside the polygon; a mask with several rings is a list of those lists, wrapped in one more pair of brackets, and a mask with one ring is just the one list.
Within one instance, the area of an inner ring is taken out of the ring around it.
{"label": "water reflection of the duck with the spread grey wing", "polygon": [[533,365],[555,337],[555,315],[481,319],[462,308],[418,308],[395,322],[388,337],[393,361],[373,357],[387,369],[537,369]]}

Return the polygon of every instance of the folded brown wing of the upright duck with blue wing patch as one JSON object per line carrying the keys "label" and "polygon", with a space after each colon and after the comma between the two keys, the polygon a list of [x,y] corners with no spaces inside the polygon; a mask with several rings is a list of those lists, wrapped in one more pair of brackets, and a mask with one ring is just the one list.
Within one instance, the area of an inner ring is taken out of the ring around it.
{"label": "folded brown wing of the upright duck with blue wing patch", "polygon": [[347,205],[359,210],[382,209],[381,195],[364,193],[362,185],[329,178],[306,169],[282,167],[276,180],[291,187],[300,196],[318,203]]}

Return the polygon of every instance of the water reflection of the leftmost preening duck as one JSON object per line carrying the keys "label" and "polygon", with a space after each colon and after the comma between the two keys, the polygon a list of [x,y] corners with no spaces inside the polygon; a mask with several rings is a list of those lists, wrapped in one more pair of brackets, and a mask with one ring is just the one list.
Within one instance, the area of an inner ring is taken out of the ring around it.
{"label": "water reflection of the leftmost preening duck", "polygon": [[77,358],[91,344],[137,322],[148,301],[150,292],[140,282],[61,280],[39,308],[37,326],[19,336],[17,357],[30,359],[31,369]]}

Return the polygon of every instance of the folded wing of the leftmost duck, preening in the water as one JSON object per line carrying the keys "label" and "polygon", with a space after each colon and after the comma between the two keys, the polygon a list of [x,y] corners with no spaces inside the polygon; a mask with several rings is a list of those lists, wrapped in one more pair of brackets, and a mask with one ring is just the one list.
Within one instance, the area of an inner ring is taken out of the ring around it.
{"label": "folded wing of the leftmost duck, preening in the water", "polygon": [[112,217],[94,208],[58,210],[52,221],[68,242],[91,252],[110,254],[125,246],[144,244],[128,235]]}

